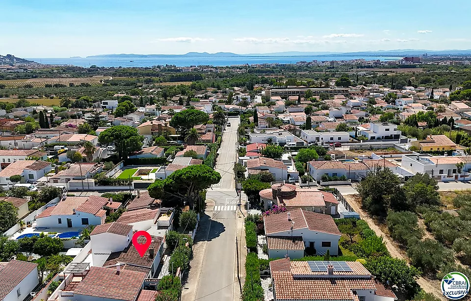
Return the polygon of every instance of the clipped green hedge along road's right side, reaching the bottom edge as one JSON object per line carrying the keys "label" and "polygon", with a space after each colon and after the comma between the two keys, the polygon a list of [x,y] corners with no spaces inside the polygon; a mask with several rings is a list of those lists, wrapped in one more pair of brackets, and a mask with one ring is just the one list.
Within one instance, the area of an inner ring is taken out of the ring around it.
{"label": "clipped green hedge along road's right side, reaching the bottom edge", "polygon": [[242,288],[243,301],[260,301],[264,298],[260,279],[260,263],[256,253],[247,254],[245,259],[245,283]]}

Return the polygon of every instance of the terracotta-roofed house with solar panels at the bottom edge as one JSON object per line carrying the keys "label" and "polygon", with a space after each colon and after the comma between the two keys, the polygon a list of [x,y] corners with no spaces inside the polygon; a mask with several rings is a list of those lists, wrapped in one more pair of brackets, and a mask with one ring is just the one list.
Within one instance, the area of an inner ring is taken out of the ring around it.
{"label": "terracotta-roofed house with solar panels at the bottom edge", "polygon": [[290,261],[269,263],[275,301],[394,301],[394,292],[358,261]]}

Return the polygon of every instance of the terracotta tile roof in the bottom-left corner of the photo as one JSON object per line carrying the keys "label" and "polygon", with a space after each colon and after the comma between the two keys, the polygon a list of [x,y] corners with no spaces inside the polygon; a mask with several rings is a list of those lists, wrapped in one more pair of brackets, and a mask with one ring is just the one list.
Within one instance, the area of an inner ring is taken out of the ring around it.
{"label": "terracotta tile roof in the bottom-left corner of the photo", "polygon": [[[20,260],[11,260],[0,265],[0,300],[10,294],[37,266],[35,263]],[[16,292],[14,293],[16,295]]]}

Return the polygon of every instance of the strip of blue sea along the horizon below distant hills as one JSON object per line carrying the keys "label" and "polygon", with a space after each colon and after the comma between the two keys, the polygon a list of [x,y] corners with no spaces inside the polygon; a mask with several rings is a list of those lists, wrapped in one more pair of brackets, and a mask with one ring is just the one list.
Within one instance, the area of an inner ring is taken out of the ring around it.
{"label": "strip of blue sea along the horizon below distant hills", "polygon": [[[242,64],[294,64],[299,61],[343,61],[354,59],[366,60],[399,60],[401,57],[385,56],[237,56],[237,57],[68,57],[68,58],[27,58],[41,64],[74,65],[80,67],[152,67],[156,65],[176,65],[186,67],[193,65],[232,66]],[[132,62],[131,62],[132,61]]]}

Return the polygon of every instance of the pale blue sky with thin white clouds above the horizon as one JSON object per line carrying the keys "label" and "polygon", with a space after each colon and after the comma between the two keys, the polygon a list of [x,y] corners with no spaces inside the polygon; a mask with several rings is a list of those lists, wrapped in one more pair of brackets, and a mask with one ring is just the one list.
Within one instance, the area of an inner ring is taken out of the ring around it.
{"label": "pale blue sky with thin white clouds above the horizon", "polygon": [[0,54],[468,50],[471,1],[2,0]]}

